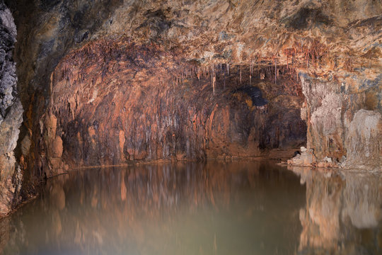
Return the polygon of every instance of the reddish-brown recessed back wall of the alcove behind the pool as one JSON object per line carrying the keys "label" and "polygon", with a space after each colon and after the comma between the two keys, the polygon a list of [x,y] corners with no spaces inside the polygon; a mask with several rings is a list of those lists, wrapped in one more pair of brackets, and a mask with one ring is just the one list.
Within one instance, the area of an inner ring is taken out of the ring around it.
{"label": "reddish-brown recessed back wall of the alcove behind the pool", "polygon": [[274,84],[257,79],[272,67],[249,81],[248,66],[228,75],[225,64],[182,61],[178,52],[127,40],[91,43],[66,57],[40,122],[49,166],[248,157],[304,145],[301,88],[287,67]]}

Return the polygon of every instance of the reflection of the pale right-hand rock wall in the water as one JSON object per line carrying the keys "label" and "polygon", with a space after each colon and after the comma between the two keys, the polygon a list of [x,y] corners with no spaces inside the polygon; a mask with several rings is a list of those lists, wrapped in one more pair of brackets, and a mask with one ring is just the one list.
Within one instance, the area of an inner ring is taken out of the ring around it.
{"label": "reflection of the pale right-hand rock wall in the water", "polygon": [[306,183],[302,254],[381,254],[382,176],[289,167]]}

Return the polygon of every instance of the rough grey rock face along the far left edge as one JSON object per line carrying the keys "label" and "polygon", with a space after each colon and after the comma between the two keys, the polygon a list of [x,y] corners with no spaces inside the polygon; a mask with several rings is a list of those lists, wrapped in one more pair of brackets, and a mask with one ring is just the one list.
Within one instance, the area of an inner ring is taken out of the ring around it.
{"label": "rough grey rock face along the far left edge", "polygon": [[0,1],[0,216],[18,202],[22,181],[14,154],[23,121],[12,56],[15,42],[16,26],[11,11]]}

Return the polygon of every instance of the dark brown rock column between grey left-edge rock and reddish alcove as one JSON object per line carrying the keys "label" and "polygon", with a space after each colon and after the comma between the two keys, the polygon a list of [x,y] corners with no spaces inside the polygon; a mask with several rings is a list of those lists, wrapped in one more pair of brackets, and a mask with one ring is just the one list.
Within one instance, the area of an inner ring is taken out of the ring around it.
{"label": "dark brown rock column between grey left-edge rock and reddish alcove", "polygon": [[18,28],[13,57],[18,63],[18,94],[25,113],[16,150],[19,158],[22,155],[22,196],[27,198],[46,177],[45,165],[40,164],[40,157],[47,154],[40,144],[40,120],[50,101],[51,74],[66,52],[90,40],[121,1],[5,2]]}

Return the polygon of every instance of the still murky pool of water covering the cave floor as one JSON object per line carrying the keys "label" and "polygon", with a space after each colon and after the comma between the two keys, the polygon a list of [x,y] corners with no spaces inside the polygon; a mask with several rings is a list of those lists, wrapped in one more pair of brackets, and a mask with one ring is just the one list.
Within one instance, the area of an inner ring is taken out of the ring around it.
{"label": "still murky pool of water covering the cave floor", "polygon": [[0,254],[382,254],[381,181],[267,161],[82,169],[0,220]]}

